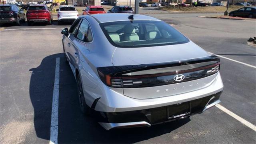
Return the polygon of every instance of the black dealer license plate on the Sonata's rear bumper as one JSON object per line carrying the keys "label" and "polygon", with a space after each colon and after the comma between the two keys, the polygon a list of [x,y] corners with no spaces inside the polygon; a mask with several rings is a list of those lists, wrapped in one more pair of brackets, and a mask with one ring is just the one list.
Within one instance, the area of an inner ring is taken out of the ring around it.
{"label": "black dealer license plate on the Sonata's rear bumper", "polygon": [[190,114],[189,102],[183,102],[183,103],[167,106],[168,119],[180,118],[188,114]]}

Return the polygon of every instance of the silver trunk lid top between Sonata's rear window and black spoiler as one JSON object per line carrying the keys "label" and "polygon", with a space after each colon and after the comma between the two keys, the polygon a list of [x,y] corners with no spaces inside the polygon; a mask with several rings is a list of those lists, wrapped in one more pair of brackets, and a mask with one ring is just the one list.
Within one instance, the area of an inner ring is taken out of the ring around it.
{"label": "silver trunk lid top between Sonata's rear window and black spoiler", "polygon": [[174,62],[210,56],[193,42],[168,46],[116,48],[112,56],[114,66]]}

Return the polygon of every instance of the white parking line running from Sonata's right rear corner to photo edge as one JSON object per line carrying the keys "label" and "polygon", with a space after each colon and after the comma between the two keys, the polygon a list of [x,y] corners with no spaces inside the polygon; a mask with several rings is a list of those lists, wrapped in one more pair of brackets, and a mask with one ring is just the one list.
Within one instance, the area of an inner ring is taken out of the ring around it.
{"label": "white parking line running from Sonata's right rear corner to photo edge", "polygon": [[220,104],[216,104],[215,105],[217,108],[219,108],[220,110],[222,110],[223,112],[226,112],[228,115],[232,116],[233,118],[235,118],[236,120],[238,120],[239,122],[241,122],[242,124],[248,126],[249,128],[251,128],[252,130],[256,131],[256,126],[254,126],[252,123],[248,122],[247,120],[241,118],[240,116],[234,114],[233,112],[231,112],[230,110],[224,108],[223,106],[221,106]]}

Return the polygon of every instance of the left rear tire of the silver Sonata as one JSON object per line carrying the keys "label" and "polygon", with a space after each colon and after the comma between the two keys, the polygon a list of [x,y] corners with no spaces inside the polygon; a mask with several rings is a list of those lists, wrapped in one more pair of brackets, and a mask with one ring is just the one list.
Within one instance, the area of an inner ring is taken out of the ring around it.
{"label": "left rear tire of the silver Sonata", "polygon": [[89,108],[89,106],[87,106],[87,104],[85,102],[84,91],[83,91],[83,87],[82,87],[82,81],[81,81],[81,78],[80,78],[79,74],[77,74],[76,83],[77,83],[78,98],[79,98],[79,104],[80,104],[81,112],[84,115],[90,115],[90,108]]}

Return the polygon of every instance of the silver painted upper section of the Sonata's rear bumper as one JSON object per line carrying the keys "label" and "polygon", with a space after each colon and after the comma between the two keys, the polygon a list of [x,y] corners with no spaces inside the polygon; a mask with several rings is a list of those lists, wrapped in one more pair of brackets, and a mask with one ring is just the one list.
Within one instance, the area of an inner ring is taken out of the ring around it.
{"label": "silver painted upper section of the Sonata's rear bumper", "polygon": [[[101,112],[126,112],[134,110],[144,110],[150,108],[157,108],[162,106],[168,106],[172,104],[188,102],[199,98],[204,98],[212,94],[216,94],[223,90],[223,83],[220,73],[214,74],[215,78],[210,84],[207,84],[204,88],[193,90],[190,92],[184,92],[180,94],[148,98],[137,99],[124,95],[122,88],[110,88],[105,84],[99,84],[93,92],[87,90],[84,93],[87,95],[86,104],[96,111]],[[202,78],[204,79],[204,78]],[[194,80],[191,81],[193,83]],[[204,82],[203,80],[201,82]],[[182,84],[182,83],[180,83]],[[172,88],[174,84],[166,85]],[[166,86],[158,86],[157,88],[166,88]],[[177,87],[178,88],[178,87]],[[92,89],[90,89],[92,90]],[[162,89],[161,89],[162,90]],[[173,90],[175,91],[175,90]],[[158,93],[155,93],[158,94]]]}

